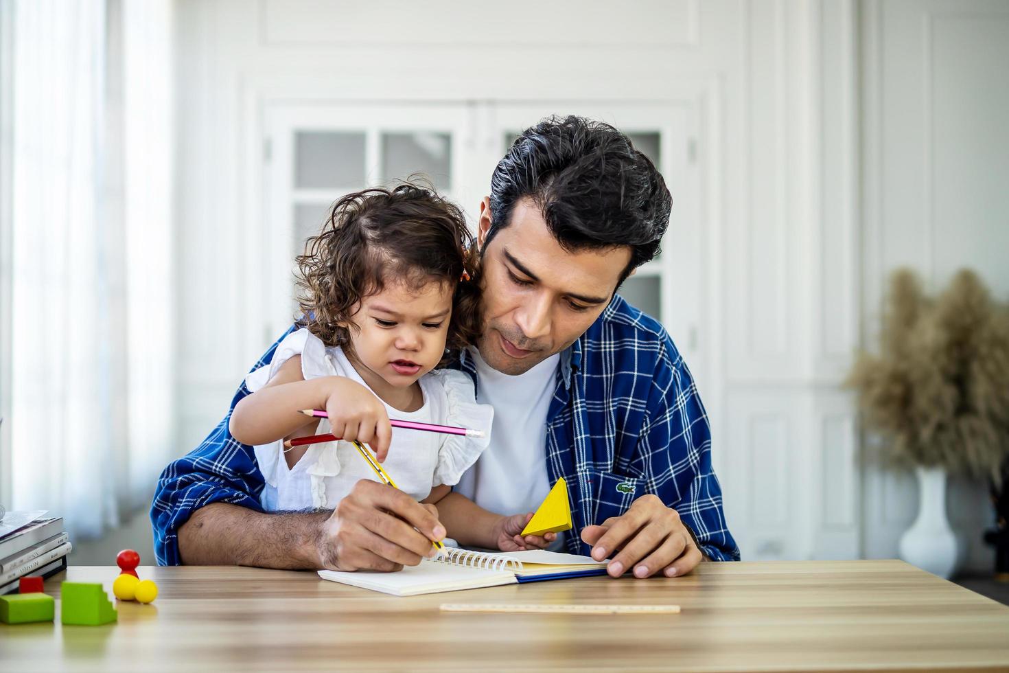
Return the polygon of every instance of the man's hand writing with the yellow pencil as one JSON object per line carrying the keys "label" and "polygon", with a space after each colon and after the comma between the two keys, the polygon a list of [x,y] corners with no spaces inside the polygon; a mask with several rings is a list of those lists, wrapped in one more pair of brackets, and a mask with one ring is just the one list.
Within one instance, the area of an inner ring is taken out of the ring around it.
{"label": "man's hand writing with the yellow pencil", "polygon": [[434,506],[361,479],[323,524],[316,548],[323,568],[391,572],[434,556],[431,541],[444,537]]}

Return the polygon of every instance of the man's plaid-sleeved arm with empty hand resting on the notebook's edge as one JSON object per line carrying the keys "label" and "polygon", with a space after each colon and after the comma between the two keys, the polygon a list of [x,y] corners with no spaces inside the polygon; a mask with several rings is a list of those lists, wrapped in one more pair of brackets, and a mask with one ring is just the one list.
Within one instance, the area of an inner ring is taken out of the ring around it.
{"label": "man's plaid-sleeved arm with empty hand resting on the notebook's edge", "polygon": [[607,569],[613,576],[631,571],[636,577],[657,572],[672,577],[704,558],[739,560],[721,511],[710,429],[696,386],[679,357],[659,362],[635,460],[650,494],[624,515],[582,531],[593,557],[611,557]]}

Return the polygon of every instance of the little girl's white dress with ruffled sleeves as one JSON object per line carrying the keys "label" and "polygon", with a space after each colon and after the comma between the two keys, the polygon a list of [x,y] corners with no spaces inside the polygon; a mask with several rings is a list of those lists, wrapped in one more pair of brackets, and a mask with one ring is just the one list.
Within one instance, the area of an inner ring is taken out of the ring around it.
{"label": "little girl's white dress with ruffled sleeves", "polygon": [[[346,376],[368,387],[341,348],[327,347],[307,329],[301,329],[279,343],[269,364],[245,377],[248,389],[255,392],[264,386],[294,355],[302,356],[302,375],[306,380]],[[382,467],[402,490],[422,500],[433,486],[458,483],[462,473],[487,448],[493,408],[476,404],[473,381],[462,371],[437,369],[421,376],[419,382],[424,405],[416,412],[401,412],[385,405],[390,419],[484,432],[483,437],[465,437],[393,428],[393,442]],[[329,421],[320,419],[316,434],[328,432]],[[256,461],[266,480],[260,502],[267,512],[332,510],[358,480],[377,480],[349,442],[312,444],[293,468],[288,467],[285,459],[283,440],[254,448]]]}

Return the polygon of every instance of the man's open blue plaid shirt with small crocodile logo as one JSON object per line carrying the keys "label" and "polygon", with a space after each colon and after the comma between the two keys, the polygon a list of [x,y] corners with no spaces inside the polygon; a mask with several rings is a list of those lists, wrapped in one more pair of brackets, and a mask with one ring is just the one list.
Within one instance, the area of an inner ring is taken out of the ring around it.
{"label": "man's open blue plaid shirt with small crocodile logo", "polygon": [[[269,362],[292,327],[252,367]],[[463,352],[458,367],[476,380]],[[245,383],[231,410],[249,394]],[[211,502],[262,511],[264,482],[252,447],[228,432],[231,411],[194,451],[161,473],[150,518],[160,565],[181,562],[177,533]],[[574,530],[568,551],[587,554],[580,532],[624,514],[646,494],[679,513],[711,559],[739,560],[711,469],[711,433],[697,387],[672,339],[654,319],[615,297],[561,353],[557,388],[547,414],[547,473],[564,477]]]}

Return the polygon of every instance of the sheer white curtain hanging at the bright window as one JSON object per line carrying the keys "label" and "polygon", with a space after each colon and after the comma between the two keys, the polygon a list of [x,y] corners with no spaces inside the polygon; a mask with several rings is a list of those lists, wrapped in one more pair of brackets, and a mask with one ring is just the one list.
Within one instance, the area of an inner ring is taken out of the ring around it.
{"label": "sheer white curtain hanging at the bright window", "polygon": [[171,0],[11,11],[13,509],[98,537],[171,453]]}

